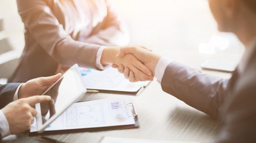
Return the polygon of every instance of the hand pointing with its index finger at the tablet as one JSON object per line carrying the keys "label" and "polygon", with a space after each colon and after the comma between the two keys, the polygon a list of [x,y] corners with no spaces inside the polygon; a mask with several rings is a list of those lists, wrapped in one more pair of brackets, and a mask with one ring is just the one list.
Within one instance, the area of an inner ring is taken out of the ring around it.
{"label": "hand pointing with its index finger at the tablet", "polygon": [[2,112],[4,113],[8,123],[11,134],[18,134],[30,129],[37,111],[31,106],[36,103],[50,101],[50,96],[37,95],[28,98],[22,98],[6,105]]}

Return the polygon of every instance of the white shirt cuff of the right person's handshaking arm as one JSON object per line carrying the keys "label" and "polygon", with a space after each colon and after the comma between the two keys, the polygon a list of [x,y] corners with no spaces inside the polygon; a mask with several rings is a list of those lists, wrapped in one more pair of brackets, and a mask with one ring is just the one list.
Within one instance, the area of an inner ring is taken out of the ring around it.
{"label": "white shirt cuff of the right person's handshaking arm", "polygon": [[161,57],[155,67],[155,77],[161,84],[162,78],[165,73],[165,68],[172,62],[169,58]]}

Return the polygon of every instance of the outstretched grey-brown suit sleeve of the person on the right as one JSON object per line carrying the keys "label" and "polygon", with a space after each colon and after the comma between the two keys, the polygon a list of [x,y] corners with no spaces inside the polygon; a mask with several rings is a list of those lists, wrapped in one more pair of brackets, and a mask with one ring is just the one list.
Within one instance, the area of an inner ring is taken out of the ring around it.
{"label": "outstretched grey-brown suit sleeve of the person on the right", "polygon": [[229,79],[201,73],[178,62],[171,62],[162,78],[163,91],[186,104],[217,118],[227,94]]}

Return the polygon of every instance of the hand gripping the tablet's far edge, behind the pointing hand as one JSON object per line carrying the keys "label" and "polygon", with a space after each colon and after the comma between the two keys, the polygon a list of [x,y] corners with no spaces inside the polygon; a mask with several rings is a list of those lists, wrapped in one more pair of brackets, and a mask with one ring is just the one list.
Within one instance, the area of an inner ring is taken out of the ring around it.
{"label": "hand gripping the tablet's far edge, behind the pointing hand", "polygon": [[61,73],[49,77],[35,78],[21,85],[18,91],[18,99],[34,95],[41,95],[55,81],[61,77]]}

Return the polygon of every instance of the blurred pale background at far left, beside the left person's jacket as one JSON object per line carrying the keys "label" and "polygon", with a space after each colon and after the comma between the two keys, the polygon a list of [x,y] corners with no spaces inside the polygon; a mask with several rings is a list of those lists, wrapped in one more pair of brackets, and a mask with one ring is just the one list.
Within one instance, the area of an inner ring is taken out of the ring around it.
{"label": "blurred pale background at far left, beside the left person's jacket", "polygon": [[6,82],[19,62],[25,45],[24,25],[16,0],[0,1],[0,84]]}

